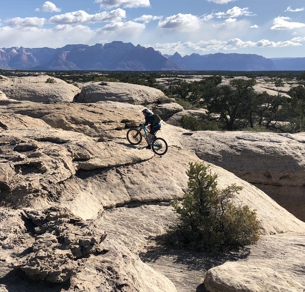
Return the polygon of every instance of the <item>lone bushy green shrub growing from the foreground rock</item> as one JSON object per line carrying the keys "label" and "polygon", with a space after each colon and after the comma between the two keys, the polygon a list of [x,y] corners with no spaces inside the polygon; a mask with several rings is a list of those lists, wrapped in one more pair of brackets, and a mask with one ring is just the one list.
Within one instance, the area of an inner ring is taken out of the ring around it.
{"label": "lone bushy green shrub growing from the foreground rock", "polygon": [[217,188],[217,175],[202,163],[190,163],[184,201],[173,202],[178,221],[166,236],[178,248],[230,251],[259,239],[259,222],[249,206],[234,206],[231,198],[242,189],[232,184]]}

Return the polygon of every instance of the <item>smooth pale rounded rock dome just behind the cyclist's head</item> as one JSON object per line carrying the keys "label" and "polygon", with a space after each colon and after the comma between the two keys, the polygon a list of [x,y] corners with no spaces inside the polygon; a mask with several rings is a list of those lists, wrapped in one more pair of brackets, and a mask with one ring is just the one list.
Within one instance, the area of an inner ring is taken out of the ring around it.
{"label": "smooth pale rounded rock dome just behind the cyclist's head", "polygon": [[158,103],[166,99],[164,93],[152,87],[129,84],[123,82],[93,82],[82,86],[80,94],[75,96],[75,102],[94,103],[110,100],[130,103],[134,105],[146,105]]}

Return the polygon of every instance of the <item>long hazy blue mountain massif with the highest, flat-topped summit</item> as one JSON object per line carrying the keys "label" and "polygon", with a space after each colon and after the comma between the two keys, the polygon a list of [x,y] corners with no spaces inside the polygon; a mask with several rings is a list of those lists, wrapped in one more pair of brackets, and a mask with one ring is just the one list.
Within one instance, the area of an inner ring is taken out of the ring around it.
{"label": "long hazy blue mountain massif with the highest, flat-topped summit", "polygon": [[8,70],[181,70],[153,48],[113,41],[63,48],[2,48],[0,69]]}

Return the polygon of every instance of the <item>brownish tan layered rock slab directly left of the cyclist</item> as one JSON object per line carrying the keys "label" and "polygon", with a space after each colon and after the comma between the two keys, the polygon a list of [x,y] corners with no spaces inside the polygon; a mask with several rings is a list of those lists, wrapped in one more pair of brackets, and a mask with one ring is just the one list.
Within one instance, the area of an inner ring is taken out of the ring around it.
{"label": "brownish tan layered rock slab directly left of the cyclist", "polygon": [[38,121],[44,121],[52,128],[82,132],[91,137],[108,137],[110,133],[120,135],[122,132],[120,130],[124,129],[126,124],[136,126],[141,121],[143,122],[142,107],[140,106],[133,106],[137,110],[130,111],[128,108],[113,110],[111,107],[102,105],[42,103],[38,107],[36,103],[10,103],[1,107],[0,112],[29,116]]}

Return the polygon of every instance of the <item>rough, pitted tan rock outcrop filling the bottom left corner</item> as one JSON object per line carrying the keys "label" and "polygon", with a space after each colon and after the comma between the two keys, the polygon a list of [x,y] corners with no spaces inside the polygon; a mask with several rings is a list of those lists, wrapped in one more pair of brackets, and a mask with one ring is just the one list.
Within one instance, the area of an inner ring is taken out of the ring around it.
{"label": "rough, pitted tan rock outcrop filling the bottom left corner", "polygon": [[177,292],[94,222],[66,209],[0,207],[0,219],[0,291]]}

